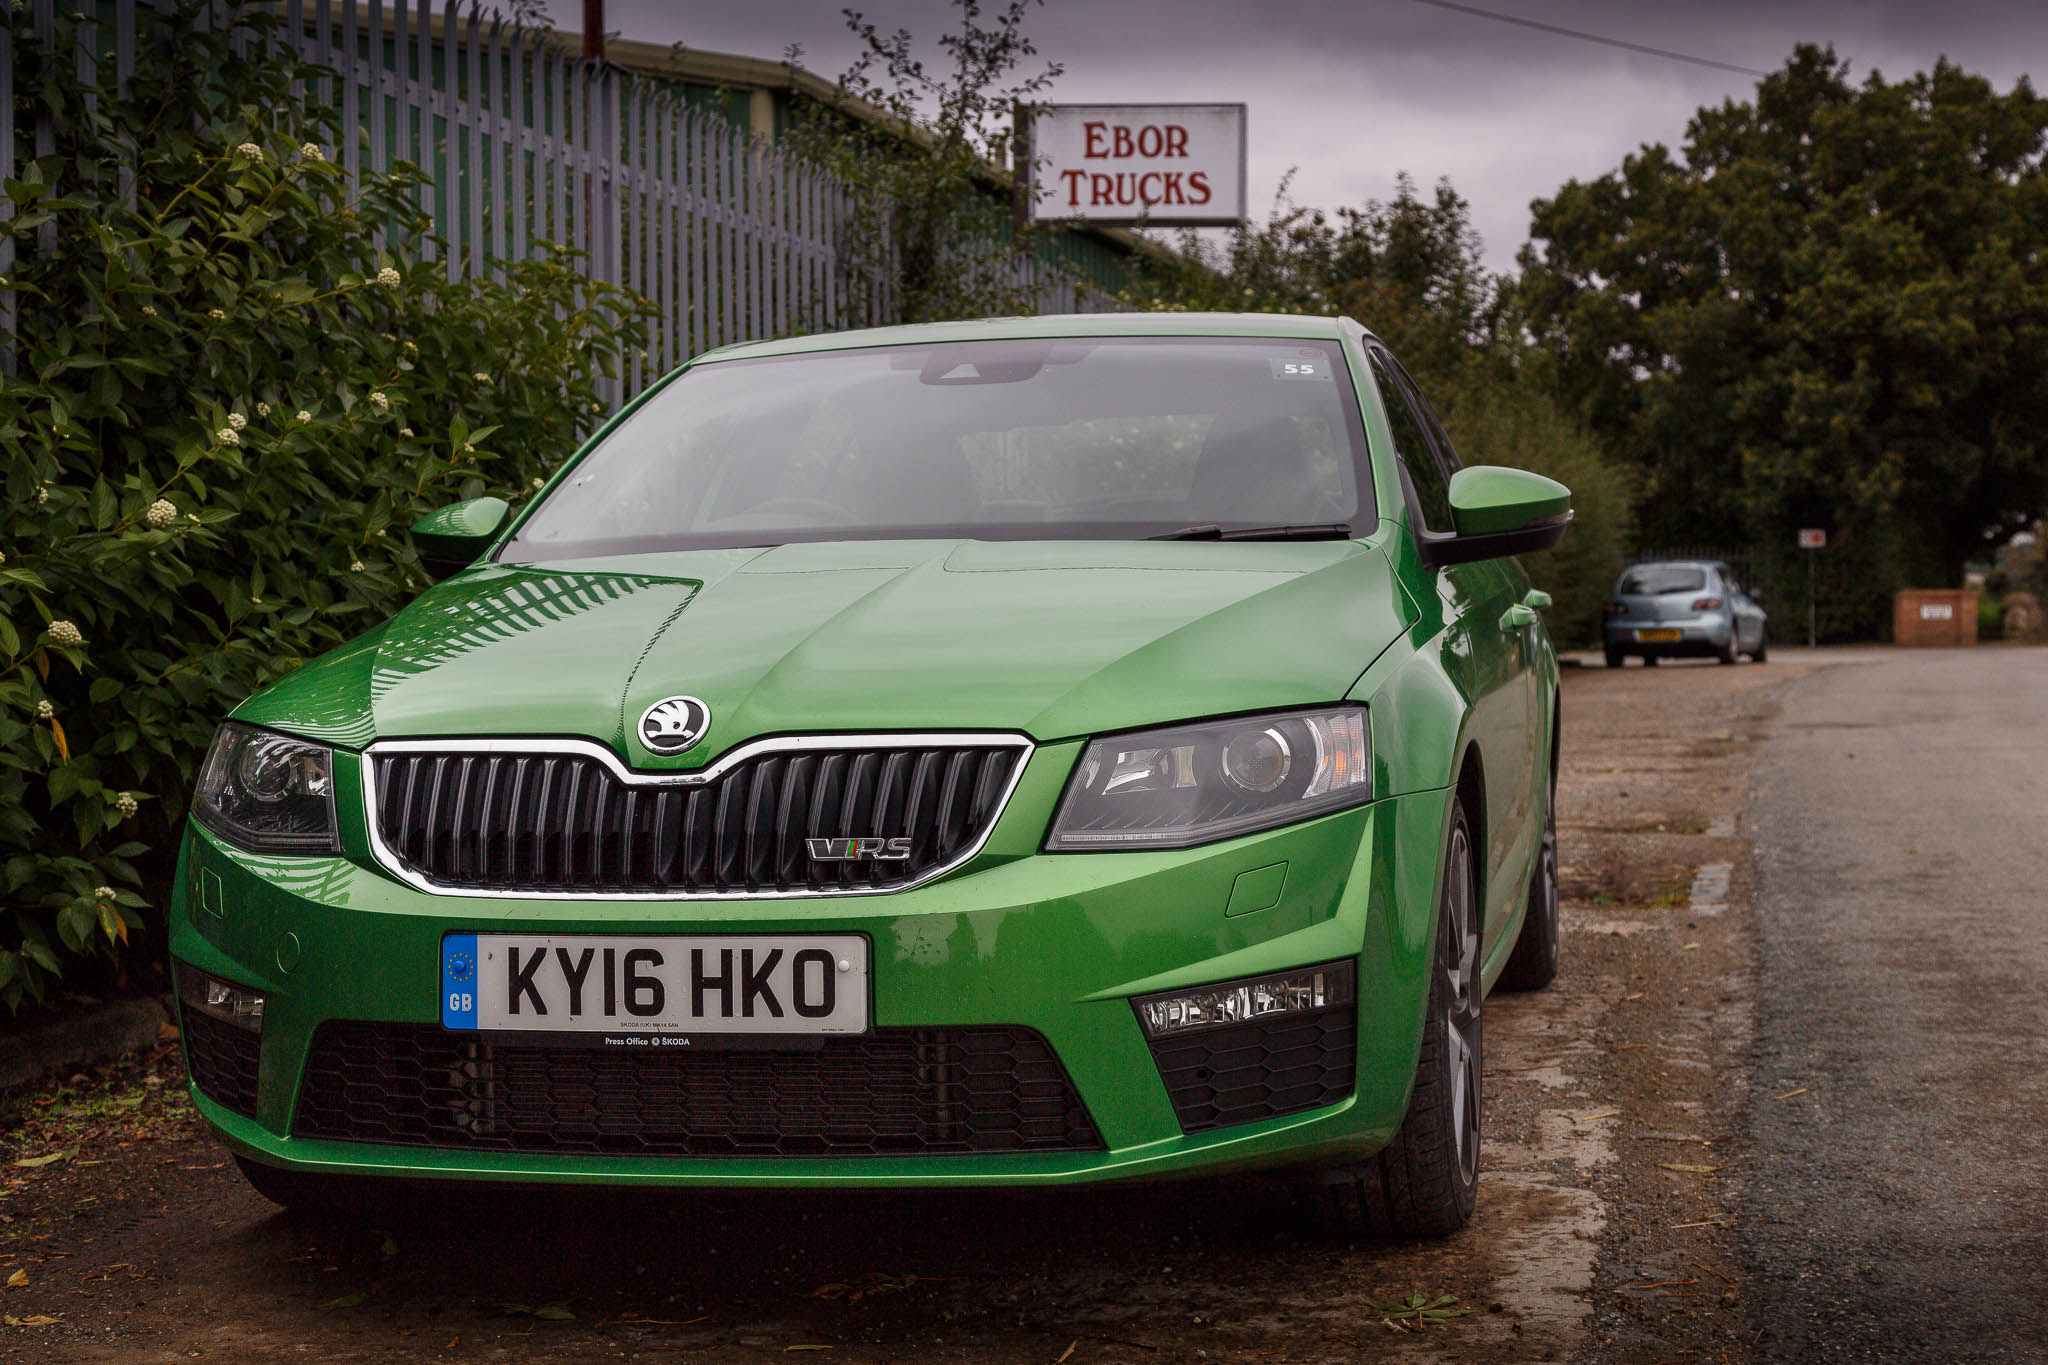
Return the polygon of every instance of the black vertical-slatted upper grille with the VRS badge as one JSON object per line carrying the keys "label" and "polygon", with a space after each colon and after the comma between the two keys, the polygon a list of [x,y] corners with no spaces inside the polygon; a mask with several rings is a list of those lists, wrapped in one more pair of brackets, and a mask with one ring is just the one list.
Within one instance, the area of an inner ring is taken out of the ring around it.
{"label": "black vertical-slatted upper grille with the VRS badge", "polygon": [[[625,782],[582,753],[373,755],[377,833],[453,888],[553,892],[887,890],[995,823],[1022,745],[791,749],[698,786]],[[897,841],[815,857],[811,839]]]}

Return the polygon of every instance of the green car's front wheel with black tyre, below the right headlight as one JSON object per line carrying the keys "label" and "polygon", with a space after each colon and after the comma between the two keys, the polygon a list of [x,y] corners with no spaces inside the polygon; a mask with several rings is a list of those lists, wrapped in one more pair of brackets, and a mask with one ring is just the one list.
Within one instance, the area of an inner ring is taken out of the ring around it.
{"label": "green car's front wheel with black tyre, below the right headlight", "polygon": [[1479,1081],[1485,1064],[1479,864],[1462,796],[1450,819],[1436,937],[1407,1117],[1374,1156],[1325,1173],[1331,1216],[1352,1236],[1446,1236],[1470,1222],[1479,1197]]}

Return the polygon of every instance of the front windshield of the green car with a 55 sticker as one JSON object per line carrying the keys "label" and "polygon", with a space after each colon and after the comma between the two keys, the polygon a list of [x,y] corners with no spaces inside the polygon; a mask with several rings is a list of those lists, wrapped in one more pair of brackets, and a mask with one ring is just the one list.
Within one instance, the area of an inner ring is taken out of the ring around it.
{"label": "front windshield of the green car with a 55 sticker", "polygon": [[1362,536],[1370,489],[1335,342],[827,350],[676,377],[502,559],[915,536]]}

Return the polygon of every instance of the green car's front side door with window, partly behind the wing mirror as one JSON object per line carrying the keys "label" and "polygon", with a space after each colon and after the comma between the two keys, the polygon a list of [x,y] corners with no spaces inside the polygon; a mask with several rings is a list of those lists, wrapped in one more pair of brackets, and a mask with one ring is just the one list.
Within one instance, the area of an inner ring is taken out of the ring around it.
{"label": "green car's front side door with window, partly behind the wing mirror", "polygon": [[[1452,530],[1450,475],[1458,469],[1458,454],[1401,362],[1378,346],[1372,346],[1368,356],[1386,405],[1411,524],[1432,532]],[[1534,851],[1532,694],[1538,679],[1528,628],[1516,626],[1509,618],[1511,608],[1522,606],[1526,581],[1511,561],[1483,559],[1440,567],[1436,587],[1444,602],[1446,667],[1466,690],[1487,784],[1483,948],[1491,952],[1522,890]]]}

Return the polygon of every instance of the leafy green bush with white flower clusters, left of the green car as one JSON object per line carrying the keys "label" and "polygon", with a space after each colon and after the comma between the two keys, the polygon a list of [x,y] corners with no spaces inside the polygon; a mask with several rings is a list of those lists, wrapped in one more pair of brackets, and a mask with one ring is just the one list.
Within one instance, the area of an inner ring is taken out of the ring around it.
{"label": "leafy green bush with white flower clusters, left of the green car", "polygon": [[[643,344],[561,256],[422,262],[418,180],[324,156],[313,72],[190,10],[113,94],[10,10],[20,303],[0,385],[0,1003],[152,931],[229,706],[422,585],[422,510],[526,491]],[[94,98],[88,98],[92,94]],[[354,131],[350,131],[354,135]],[[27,137],[20,147],[31,143]],[[381,233],[381,235],[379,235]],[[379,250],[379,239],[385,244]],[[393,530],[399,528],[399,530]]]}

